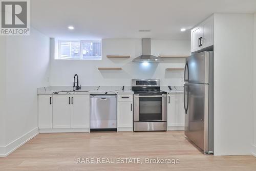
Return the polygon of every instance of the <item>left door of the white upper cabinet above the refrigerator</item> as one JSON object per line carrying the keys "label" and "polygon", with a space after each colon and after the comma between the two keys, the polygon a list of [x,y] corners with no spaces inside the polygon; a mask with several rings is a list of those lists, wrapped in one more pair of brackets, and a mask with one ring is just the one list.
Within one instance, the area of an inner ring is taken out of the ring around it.
{"label": "left door of the white upper cabinet above the refrigerator", "polygon": [[191,30],[191,52],[201,49],[199,38],[201,37],[201,25]]}

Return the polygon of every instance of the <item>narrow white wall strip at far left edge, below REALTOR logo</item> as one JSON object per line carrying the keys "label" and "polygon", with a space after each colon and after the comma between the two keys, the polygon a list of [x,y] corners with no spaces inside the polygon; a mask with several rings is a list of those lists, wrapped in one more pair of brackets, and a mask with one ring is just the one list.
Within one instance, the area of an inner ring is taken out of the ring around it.
{"label": "narrow white wall strip at far left edge, below REALTOR logo", "polygon": [[[5,101],[6,101],[6,37],[0,37],[0,154],[5,145]],[[2,146],[2,147],[1,147]]]}

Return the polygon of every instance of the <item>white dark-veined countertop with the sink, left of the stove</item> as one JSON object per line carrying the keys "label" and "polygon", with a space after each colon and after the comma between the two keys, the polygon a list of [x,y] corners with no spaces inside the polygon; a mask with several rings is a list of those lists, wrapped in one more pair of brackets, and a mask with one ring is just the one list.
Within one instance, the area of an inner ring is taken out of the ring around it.
{"label": "white dark-veined countertop with the sink, left of the stove", "polygon": [[131,87],[125,86],[82,86],[81,90],[73,91],[71,86],[51,86],[37,88],[37,94],[133,94]]}

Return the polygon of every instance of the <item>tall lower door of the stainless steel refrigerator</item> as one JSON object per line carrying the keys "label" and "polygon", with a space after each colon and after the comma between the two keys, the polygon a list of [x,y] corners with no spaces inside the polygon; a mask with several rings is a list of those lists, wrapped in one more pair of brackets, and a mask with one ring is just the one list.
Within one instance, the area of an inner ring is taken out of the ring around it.
{"label": "tall lower door of the stainless steel refrigerator", "polygon": [[208,151],[208,85],[188,84],[185,135],[204,152]]}

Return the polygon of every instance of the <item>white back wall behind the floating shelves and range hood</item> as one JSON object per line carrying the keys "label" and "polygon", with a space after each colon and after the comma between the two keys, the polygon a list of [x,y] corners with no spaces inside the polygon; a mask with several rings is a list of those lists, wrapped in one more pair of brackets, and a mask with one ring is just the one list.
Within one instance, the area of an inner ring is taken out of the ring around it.
{"label": "white back wall behind the floating shelves and range hood", "polygon": [[[190,55],[189,40],[152,40],[152,54]],[[106,55],[131,55],[129,59],[110,59]],[[72,86],[78,74],[82,86],[131,86],[131,79],[158,78],[161,85],[183,85],[182,71],[165,68],[184,67],[184,59],[150,63],[147,67],[132,59],[141,55],[141,39],[103,39],[102,60],[54,60],[51,57],[51,86]],[[121,71],[99,71],[98,67],[122,67]]]}

